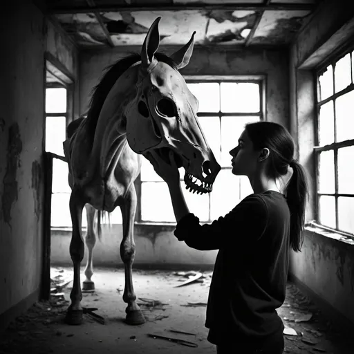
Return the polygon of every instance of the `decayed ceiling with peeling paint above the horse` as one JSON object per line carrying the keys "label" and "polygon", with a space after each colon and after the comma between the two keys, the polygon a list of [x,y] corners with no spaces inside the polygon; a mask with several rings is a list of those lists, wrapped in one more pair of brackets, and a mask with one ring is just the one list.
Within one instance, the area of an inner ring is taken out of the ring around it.
{"label": "decayed ceiling with peeling paint above the horse", "polygon": [[80,47],[141,46],[156,17],[160,46],[284,46],[322,0],[46,0]]}

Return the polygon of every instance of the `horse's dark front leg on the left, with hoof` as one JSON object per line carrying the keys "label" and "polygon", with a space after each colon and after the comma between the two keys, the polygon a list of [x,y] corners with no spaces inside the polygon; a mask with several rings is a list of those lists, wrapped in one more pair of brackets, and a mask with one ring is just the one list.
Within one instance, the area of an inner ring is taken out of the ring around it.
{"label": "horse's dark front leg on the left, with hoof", "polygon": [[70,196],[70,214],[73,224],[73,234],[70,243],[70,255],[74,265],[73,288],[70,293],[71,305],[66,312],[66,323],[82,324],[82,292],[80,288],[80,264],[84,258],[84,242],[82,241],[81,223],[82,209],[84,209],[84,201],[77,191],[71,192]]}

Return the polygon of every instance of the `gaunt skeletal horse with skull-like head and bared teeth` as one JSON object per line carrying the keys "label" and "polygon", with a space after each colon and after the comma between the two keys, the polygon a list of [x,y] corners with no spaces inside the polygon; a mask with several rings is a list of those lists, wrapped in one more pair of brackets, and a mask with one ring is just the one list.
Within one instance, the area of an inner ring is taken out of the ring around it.
{"label": "gaunt skeletal horse with skull-like head and bared teeth", "polygon": [[73,232],[70,254],[73,261],[71,304],[66,323],[82,324],[80,265],[84,258],[82,211],[86,207],[88,260],[84,289],[94,288],[91,277],[95,245],[94,221],[100,236],[100,220],[119,206],[123,237],[120,257],[124,263],[123,301],[127,303],[125,322],[145,323],[133,289],[132,265],[136,254],[133,239],[137,196],[134,181],[140,174],[141,158],[155,150],[168,161],[173,151],[178,167],[185,169],[189,192],[212,191],[221,167],[216,162],[198,124],[198,100],[189,91],[180,68],[189,63],[194,46],[193,32],[185,46],[168,56],[158,52],[160,35],[153,21],[141,53],[124,57],[106,68],[93,88],[86,117],[67,127],[63,142],[71,187],[69,208]]}

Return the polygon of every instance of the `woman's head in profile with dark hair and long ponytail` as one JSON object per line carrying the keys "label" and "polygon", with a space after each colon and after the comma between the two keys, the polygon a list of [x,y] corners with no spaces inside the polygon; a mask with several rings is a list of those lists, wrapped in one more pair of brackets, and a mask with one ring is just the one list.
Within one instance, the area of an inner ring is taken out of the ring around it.
{"label": "woman's head in profile with dark hair and long ponytail", "polygon": [[252,177],[263,169],[269,178],[285,176],[288,167],[293,173],[286,186],[290,209],[290,245],[301,249],[305,221],[306,194],[308,193],[304,168],[294,160],[294,140],[281,124],[255,122],[246,124],[239,145],[230,151],[232,173]]}

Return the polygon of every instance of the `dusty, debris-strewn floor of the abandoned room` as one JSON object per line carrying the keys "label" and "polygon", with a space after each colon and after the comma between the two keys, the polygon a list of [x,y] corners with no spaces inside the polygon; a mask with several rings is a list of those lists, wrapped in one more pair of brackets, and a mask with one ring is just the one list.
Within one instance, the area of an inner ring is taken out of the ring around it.
{"label": "dusty, debris-strewn floor of the abandoned room", "polygon": [[[146,319],[139,326],[124,323],[124,270],[95,268],[94,272],[95,291],[83,293],[82,306],[97,308],[93,313],[104,323],[90,315],[84,315],[79,326],[64,323],[73,271],[52,268],[50,301],[37,302],[0,333],[0,354],[216,353],[204,327],[212,272],[133,270],[134,290]],[[353,354],[353,339],[336,330],[294,284],[288,283],[278,313],[286,326],[284,353]],[[183,339],[194,346],[148,334]]]}

